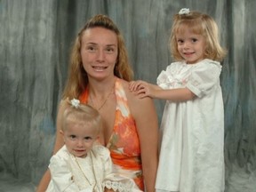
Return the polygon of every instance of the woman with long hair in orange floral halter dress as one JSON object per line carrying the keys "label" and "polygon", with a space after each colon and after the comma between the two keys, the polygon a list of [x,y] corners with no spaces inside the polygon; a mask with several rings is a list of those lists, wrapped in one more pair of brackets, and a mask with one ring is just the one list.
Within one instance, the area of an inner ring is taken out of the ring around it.
{"label": "woman with long hair in orange floral halter dress", "polygon": [[[153,192],[158,163],[156,109],[153,100],[140,100],[129,91],[131,80],[120,31],[107,16],[94,16],[76,37],[61,102],[78,98],[96,108],[104,121],[100,142],[109,148],[116,171],[132,178],[141,190]],[[59,132],[66,105],[61,102],[53,153],[64,144]],[[44,191],[49,180],[47,171],[37,191]]]}

